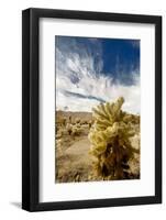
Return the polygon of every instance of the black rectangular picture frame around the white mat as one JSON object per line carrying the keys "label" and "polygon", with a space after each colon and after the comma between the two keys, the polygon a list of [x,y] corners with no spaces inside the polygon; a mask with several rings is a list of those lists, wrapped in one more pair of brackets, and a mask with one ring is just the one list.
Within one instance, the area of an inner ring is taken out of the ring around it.
{"label": "black rectangular picture frame around the white mat", "polygon": [[[38,179],[38,21],[41,18],[132,22],[155,25],[155,196],[96,200],[40,202]],[[162,16],[26,9],[22,12],[22,209],[63,209],[133,206],[162,202]]]}

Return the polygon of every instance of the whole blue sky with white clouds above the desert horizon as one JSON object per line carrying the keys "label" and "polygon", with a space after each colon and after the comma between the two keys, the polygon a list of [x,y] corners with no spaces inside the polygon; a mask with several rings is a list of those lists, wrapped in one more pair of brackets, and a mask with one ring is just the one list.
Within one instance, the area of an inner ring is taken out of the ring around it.
{"label": "whole blue sky with white clouds above the desert horizon", "polygon": [[124,109],[140,112],[139,40],[55,36],[55,72],[57,109],[90,111],[124,96]]}

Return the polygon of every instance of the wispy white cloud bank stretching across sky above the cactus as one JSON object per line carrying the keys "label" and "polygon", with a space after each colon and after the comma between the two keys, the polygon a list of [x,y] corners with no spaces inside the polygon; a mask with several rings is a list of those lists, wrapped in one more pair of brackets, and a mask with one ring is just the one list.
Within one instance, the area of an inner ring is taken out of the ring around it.
{"label": "wispy white cloud bank stretching across sky above the cactus", "polygon": [[[77,53],[78,50],[81,50],[81,53]],[[96,56],[99,56],[100,61],[98,67],[95,63]],[[125,99],[123,109],[140,113],[141,95],[137,73],[133,72],[134,84],[129,86],[120,81],[114,84],[111,75],[103,75],[101,70],[101,54],[90,53],[84,46],[77,48],[75,42],[65,50],[56,46],[56,108],[91,111],[91,108],[102,100],[112,101],[123,96]]]}

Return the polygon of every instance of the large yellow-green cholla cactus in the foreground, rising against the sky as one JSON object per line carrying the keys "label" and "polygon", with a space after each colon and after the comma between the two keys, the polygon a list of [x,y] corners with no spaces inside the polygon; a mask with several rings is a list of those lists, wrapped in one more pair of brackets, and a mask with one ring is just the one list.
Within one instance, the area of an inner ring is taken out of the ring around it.
{"label": "large yellow-green cholla cactus in the foreground, rising against the sky", "polygon": [[92,109],[95,123],[89,132],[90,153],[97,158],[97,174],[106,179],[125,178],[128,162],[135,152],[130,142],[135,132],[121,110],[123,102],[120,97],[114,103],[100,103]]}

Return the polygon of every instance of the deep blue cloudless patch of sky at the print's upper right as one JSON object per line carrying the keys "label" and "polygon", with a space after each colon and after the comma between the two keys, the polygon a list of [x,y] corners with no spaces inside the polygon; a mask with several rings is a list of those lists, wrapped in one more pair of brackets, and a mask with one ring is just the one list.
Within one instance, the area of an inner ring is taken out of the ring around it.
{"label": "deep blue cloudless patch of sky at the print's upper right", "polygon": [[103,73],[121,84],[134,84],[132,73],[140,73],[140,41],[102,40]]}

